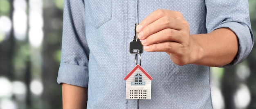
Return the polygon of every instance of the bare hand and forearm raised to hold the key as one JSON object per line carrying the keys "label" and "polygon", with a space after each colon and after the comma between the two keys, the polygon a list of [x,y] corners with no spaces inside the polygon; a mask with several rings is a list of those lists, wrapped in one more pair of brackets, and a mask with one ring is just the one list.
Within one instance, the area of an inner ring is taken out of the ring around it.
{"label": "bare hand and forearm raised to hold the key", "polygon": [[238,52],[236,34],[220,28],[207,34],[190,35],[189,24],[177,11],[156,10],[137,27],[145,51],[164,51],[177,65],[224,66]]}

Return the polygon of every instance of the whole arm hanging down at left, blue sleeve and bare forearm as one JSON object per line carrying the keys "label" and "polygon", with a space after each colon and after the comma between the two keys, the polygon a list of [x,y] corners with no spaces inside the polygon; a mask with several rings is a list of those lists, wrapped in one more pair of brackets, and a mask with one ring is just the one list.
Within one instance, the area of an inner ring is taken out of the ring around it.
{"label": "whole arm hanging down at left, blue sleeve and bare forearm", "polygon": [[89,48],[85,36],[83,0],[64,0],[63,37],[58,84],[62,85],[63,109],[82,109],[87,104]]}

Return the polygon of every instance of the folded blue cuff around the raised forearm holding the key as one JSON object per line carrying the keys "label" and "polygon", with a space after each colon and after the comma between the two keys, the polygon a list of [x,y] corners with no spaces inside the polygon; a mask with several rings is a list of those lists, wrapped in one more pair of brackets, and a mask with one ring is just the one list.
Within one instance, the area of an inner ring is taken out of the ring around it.
{"label": "folded blue cuff around the raised forearm holding the key", "polygon": [[230,67],[232,65],[236,65],[243,62],[243,60],[245,60],[249,53],[251,52],[254,43],[249,27],[245,24],[240,24],[238,22],[226,22],[220,24],[215,29],[218,28],[231,29],[232,31],[234,31],[234,33],[236,33],[239,42],[239,48],[236,58],[230,64],[225,65],[223,67]]}

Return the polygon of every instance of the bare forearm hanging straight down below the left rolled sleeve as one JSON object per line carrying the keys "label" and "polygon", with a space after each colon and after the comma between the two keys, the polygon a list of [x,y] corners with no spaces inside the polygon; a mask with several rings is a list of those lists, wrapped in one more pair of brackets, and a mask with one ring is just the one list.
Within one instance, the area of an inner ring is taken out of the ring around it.
{"label": "bare forearm hanging straight down below the left rolled sleeve", "polygon": [[86,109],[88,88],[62,84],[63,109]]}

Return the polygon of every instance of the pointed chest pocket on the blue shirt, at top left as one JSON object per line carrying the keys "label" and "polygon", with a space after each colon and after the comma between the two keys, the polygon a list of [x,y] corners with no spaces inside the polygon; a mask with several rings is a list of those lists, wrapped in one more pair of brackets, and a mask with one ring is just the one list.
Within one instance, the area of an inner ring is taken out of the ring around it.
{"label": "pointed chest pocket on the blue shirt, at top left", "polygon": [[112,17],[112,0],[85,0],[85,22],[99,28]]}

